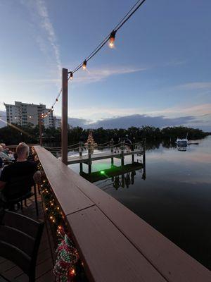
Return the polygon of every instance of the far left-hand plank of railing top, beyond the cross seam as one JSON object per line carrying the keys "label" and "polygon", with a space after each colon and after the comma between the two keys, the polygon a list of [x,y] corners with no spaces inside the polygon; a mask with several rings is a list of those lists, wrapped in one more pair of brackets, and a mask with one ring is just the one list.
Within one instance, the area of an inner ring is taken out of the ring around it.
{"label": "far left-hand plank of railing top, beyond the cross seam", "polygon": [[39,146],[34,148],[36,149],[39,161],[44,168],[53,193],[65,215],[86,209],[94,204],[70,180],[70,170],[65,170],[67,167],[65,164],[53,157],[46,149]]}

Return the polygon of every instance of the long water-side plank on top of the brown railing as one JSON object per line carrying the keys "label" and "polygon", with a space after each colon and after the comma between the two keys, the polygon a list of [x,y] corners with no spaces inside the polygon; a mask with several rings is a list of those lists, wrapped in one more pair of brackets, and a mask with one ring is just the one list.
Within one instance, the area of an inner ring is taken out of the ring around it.
{"label": "long water-side plank on top of the brown railing", "polygon": [[[68,168],[67,168],[68,169]],[[146,221],[96,185],[71,171],[71,179],[138,250],[171,282],[208,282],[211,272]]]}

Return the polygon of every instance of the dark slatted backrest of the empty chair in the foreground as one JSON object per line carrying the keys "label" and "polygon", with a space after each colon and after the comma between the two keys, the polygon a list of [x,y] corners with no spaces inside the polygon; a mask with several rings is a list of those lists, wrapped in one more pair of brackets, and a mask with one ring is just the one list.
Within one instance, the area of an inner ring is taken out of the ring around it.
{"label": "dark slatted backrest of the empty chair in the foreground", "polygon": [[44,222],[6,211],[0,223],[0,254],[34,280]]}

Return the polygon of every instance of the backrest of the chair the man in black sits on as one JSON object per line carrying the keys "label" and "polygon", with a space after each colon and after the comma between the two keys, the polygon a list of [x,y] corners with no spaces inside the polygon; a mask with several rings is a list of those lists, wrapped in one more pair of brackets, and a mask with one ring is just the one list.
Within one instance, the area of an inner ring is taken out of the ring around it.
{"label": "backrest of the chair the man in black sits on", "polygon": [[26,176],[16,176],[10,178],[6,187],[3,190],[4,197],[6,200],[13,200],[18,197],[22,197],[31,191],[32,186],[34,185],[33,174],[30,173]]}

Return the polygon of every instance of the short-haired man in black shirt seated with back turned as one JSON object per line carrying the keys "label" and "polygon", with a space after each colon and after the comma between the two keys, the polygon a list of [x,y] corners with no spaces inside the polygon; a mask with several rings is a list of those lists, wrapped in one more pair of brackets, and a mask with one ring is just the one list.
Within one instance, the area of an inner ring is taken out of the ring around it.
{"label": "short-haired man in black shirt seated with back turned", "polygon": [[[17,161],[3,169],[0,177],[0,191],[5,188],[4,195],[6,195],[6,185],[11,183],[12,180],[17,178],[18,181],[18,178],[24,179],[27,176],[32,178],[33,174],[37,171],[37,164],[27,160],[29,152],[30,148],[28,145],[20,143],[16,148],[16,154],[18,156]],[[21,185],[24,187],[25,183],[21,183]]]}

